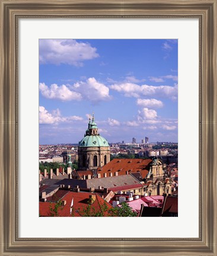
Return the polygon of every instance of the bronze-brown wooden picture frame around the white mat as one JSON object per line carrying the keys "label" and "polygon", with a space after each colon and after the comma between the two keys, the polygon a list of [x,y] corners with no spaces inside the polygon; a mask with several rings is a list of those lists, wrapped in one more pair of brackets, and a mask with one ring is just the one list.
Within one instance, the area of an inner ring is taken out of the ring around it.
{"label": "bronze-brown wooden picture frame around the white mat", "polygon": [[[0,2],[0,255],[217,255],[217,1]],[[18,21],[22,17],[199,19],[199,238],[18,237]]]}

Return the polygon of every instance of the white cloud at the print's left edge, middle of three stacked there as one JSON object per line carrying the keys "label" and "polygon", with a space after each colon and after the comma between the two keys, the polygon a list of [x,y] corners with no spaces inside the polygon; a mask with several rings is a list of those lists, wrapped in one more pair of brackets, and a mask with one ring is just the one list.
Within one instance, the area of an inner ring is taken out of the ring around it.
{"label": "white cloud at the print's left edge, middle of three stacked there", "polygon": [[46,84],[40,83],[39,90],[42,93],[42,95],[47,99],[58,99],[63,101],[82,99],[80,93],[71,91],[67,86],[65,86],[65,84],[63,84],[62,86],[52,84],[50,87],[48,87],[46,86]]}

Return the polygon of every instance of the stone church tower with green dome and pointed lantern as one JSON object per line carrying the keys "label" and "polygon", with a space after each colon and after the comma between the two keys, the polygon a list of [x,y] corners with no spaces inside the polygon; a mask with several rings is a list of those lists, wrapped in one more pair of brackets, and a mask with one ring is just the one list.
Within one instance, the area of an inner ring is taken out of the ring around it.
{"label": "stone church tower with green dome and pointed lantern", "polygon": [[94,115],[89,118],[88,129],[78,146],[78,169],[96,170],[110,162],[110,147],[105,138],[98,134]]}

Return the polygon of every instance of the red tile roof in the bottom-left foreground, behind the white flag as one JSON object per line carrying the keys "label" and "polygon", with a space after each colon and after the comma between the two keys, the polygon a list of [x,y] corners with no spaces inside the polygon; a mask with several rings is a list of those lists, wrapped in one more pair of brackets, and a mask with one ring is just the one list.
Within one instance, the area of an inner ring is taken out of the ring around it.
{"label": "red tile roof in the bottom-left foreground, behind the white flag", "polygon": [[[74,213],[75,217],[81,217],[81,214],[78,213],[80,209],[82,211],[83,208],[88,206],[88,200],[90,195],[95,195],[95,201],[91,204],[91,211],[101,210],[101,206],[105,203],[106,206],[109,208],[113,208],[110,204],[108,204],[103,198],[100,197],[98,194],[92,194],[88,192],[71,192],[68,193],[62,198],[61,201],[65,200],[65,206],[59,207],[58,216],[59,217],[71,217],[71,203],[73,198],[73,207],[72,213]],[[46,202],[39,202],[39,214],[43,217],[50,217],[50,207],[54,208],[56,203]]]}

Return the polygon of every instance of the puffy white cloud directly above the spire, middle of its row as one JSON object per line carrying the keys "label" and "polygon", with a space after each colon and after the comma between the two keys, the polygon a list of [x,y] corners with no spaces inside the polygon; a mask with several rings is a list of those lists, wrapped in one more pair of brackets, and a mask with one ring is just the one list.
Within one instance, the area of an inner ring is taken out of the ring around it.
{"label": "puffy white cloud directly above the spire, middle of its row", "polygon": [[91,102],[111,99],[109,88],[99,83],[94,77],[75,83],[72,89],[80,93],[84,99],[90,100]]}

